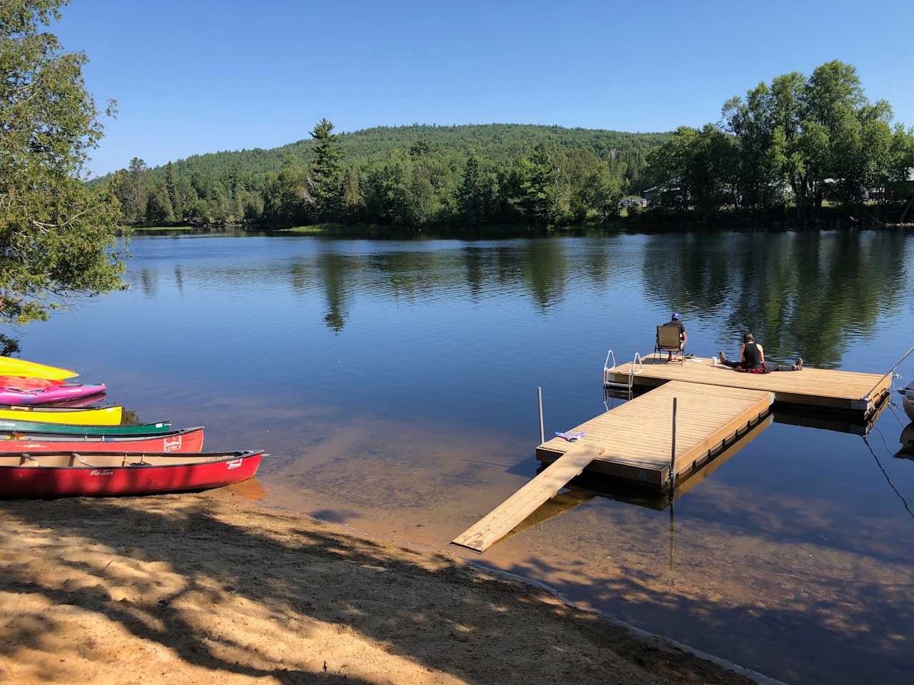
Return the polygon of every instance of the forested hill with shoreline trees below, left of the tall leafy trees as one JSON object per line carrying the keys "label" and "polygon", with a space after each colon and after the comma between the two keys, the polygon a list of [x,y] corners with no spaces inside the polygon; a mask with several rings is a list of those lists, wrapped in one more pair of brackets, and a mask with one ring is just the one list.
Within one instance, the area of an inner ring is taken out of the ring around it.
{"label": "forested hill with shoreline trees below, left of the tall leafy trees", "polygon": [[302,225],[604,220],[641,189],[647,155],[670,133],[487,124],[377,127],[271,150],[194,155],[129,168],[111,184],[128,223]]}

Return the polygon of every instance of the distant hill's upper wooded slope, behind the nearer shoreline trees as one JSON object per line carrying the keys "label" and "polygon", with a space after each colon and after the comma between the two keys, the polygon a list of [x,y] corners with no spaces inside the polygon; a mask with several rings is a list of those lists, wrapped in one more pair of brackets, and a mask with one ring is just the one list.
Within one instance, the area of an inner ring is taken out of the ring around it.
{"label": "distant hill's upper wooded slope, behind the nearer shoreline trees", "polygon": [[[492,123],[460,126],[377,126],[361,131],[340,133],[339,144],[349,162],[387,157],[397,150],[404,152],[416,144],[428,143],[436,152],[465,158],[473,153],[493,162],[507,162],[528,153],[539,142],[579,150],[589,150],[610,160],[627,163],[637,174],[651,149],[669,138],[670,133],[626,133],[603,129],[568,129],[561,126]],[[221,178],[236,170],[251,178],[278,172],[290,164],[306,166],[314,158],[314,139],[306,138],[288,145],[264,150],[225,151],[195,154],[173,162],[177,174]],[[154,177],[164,174],[164,166],[150,169]],[[104,181],[107,174],[95,182]],[[95,183],[93,182],[93,183]]]}

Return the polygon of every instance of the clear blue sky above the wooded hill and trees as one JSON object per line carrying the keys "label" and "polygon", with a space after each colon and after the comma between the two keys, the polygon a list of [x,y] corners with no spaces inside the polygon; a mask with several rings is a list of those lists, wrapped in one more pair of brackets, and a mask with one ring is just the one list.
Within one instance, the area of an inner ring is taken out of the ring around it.
{"label": "clear blue sky above the wooded hill and trees", "polygon": [[914,125],[914,3],[73,0],[55,26],[118,100],[91,170],[340,131],[545,123],[666,131],[760,80],[855,64]]}

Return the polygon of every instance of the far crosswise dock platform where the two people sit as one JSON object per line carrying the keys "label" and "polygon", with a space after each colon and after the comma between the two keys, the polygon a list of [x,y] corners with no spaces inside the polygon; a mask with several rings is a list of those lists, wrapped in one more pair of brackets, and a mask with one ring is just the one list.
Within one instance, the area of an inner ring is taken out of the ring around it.
{"label": "far crosswise dock platform where the two people sit", "polygon": [[[604,383],[628,385],[632,364],[620,364],[604,371]],[[667,381],[746,388],[774,393],[777,402],[821,406],[868,414],[889,390],[887,375],[857,374],[834,369],[742,374],[728,366],[714,365],[710,359],[695,358],[685,364],[670,364],[666,355],[649,354],[643,364],[634,364],[633,385],[654,387]]]}

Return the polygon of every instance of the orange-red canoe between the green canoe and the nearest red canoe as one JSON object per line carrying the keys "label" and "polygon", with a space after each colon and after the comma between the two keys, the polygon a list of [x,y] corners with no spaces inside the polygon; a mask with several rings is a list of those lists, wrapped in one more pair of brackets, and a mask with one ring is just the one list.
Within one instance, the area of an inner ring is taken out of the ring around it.
{"label": "orange-red canoe between the green canoe and the nearest red canoe", "polygon": [[37,435],[0,432],[0,452],[202,452],[203,427],[155,436]]}

